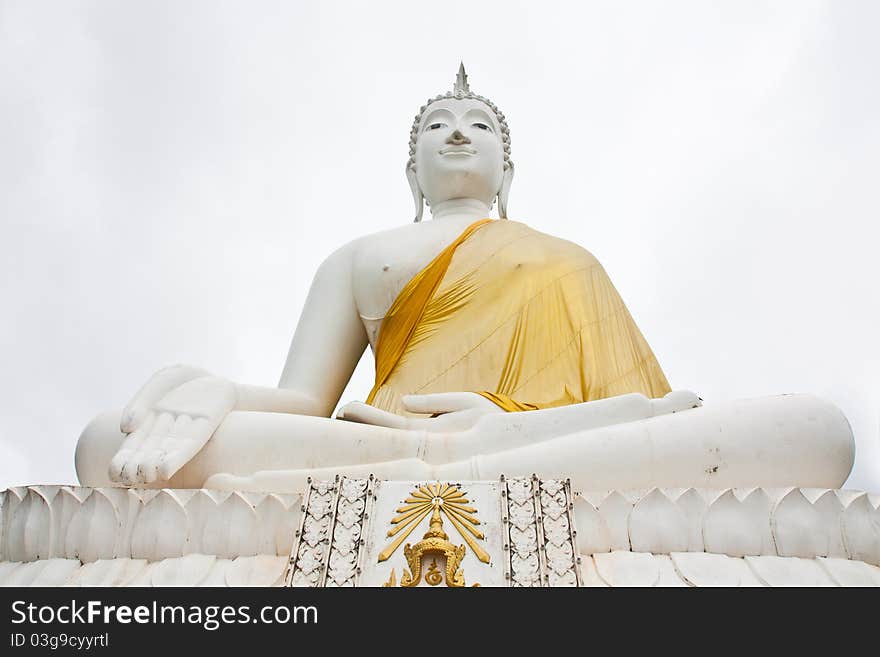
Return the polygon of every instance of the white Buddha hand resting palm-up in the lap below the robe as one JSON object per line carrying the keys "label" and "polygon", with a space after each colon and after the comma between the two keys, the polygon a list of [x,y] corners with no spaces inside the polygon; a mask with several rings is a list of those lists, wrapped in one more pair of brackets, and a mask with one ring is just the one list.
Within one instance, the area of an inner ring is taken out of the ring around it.
{"label": "white Buddha hand resting palm-up in the lap below the robe", "polygon": [[401,401],[410,413],[430,415],[428,418],[403,417],[363,402],[343,406],[337,419],[374,424],[392,429],[422,431],[465,431],[489,413],[503,413],[494,402],[475,392],[437,392],[429,395],[405,395]]}

